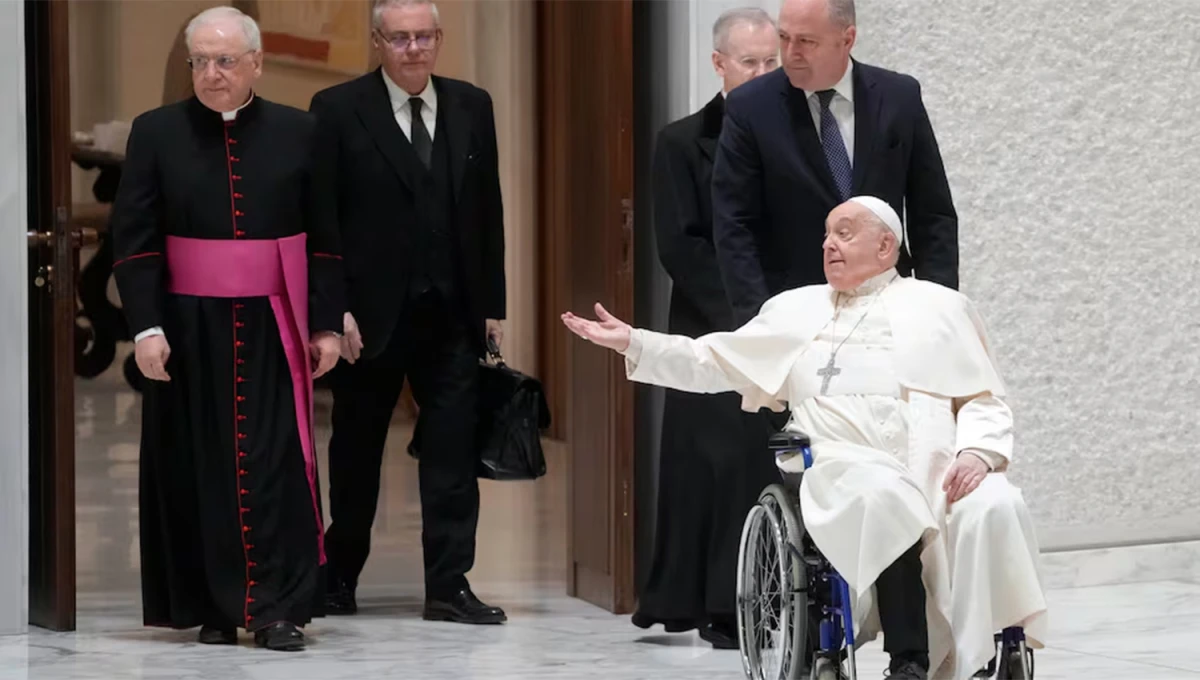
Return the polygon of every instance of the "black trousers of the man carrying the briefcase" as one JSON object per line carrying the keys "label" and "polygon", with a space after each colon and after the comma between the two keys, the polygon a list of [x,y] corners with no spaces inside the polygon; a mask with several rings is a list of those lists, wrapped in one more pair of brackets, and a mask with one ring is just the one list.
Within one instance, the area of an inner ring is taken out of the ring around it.
{"label": "black trousers of the man carrying the briefcase", "polygon": [[446,597],[467,586],[479,523],[474,347],[464,315],[434,289],[406,305],[379,356],[343,362],[331,375],[330,583],[342,579],[355,588],[371,552],[384,444],[407,375],[421,411],[425,594]]}

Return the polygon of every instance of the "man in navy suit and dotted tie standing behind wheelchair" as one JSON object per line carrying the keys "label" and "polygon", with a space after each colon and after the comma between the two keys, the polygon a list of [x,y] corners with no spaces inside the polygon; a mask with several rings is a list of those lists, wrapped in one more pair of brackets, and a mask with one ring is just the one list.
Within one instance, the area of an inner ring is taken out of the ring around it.
{"label": "man in navy suit and dotted tie standing behind wheelchair", "polygon": [[856,31],[853,0],[784,0],[784,67],[726,103],[713,231],[738,324],[824,282],[824,218],[858,194],[907,213],[902,275],[958,288],[958,215],[920,85],[852,60]]}

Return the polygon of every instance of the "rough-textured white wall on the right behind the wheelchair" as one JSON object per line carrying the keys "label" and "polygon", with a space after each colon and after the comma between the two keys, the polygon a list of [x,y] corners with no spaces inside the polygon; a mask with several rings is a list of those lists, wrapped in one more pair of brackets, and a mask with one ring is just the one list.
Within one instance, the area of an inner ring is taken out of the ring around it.
{"label": "rough-textured white wall on the right behind the wheelchair", "polygon": [[916,76],[1051,548],[1200,537],[1200,2],[862,0]]}

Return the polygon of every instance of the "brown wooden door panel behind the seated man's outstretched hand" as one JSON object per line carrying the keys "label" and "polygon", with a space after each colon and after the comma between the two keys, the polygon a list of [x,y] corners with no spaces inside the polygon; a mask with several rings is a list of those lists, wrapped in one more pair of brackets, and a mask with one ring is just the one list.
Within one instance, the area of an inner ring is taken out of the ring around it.
{"label": "brown wooden door panel behind the seated man's outstretched hand", "polygon": [[[634,604],[634,391],[619,356],[569,337],[564,309],[632,319],[632,0],[539,2],[544,365],[570,445],[569,588]],[[556,393],[557,392],[557,393]]]}

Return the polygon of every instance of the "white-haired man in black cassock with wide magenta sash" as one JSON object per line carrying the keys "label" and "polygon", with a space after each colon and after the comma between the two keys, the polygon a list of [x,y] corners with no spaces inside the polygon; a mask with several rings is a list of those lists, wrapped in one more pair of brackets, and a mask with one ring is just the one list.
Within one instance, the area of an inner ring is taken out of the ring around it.
{"label": "white-haired man in black cassock with wide magenta sash", "polygon": [[[138,116],[114,272],[144,391],[142,595],[150,626],[304,649],[324,560],[312,380],[337,362],[336,231],[311,191],[316,125],[254,95],[254,20],[187,28],[196,96]],[[319,613],[319,612],[318,612]]]}

